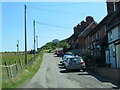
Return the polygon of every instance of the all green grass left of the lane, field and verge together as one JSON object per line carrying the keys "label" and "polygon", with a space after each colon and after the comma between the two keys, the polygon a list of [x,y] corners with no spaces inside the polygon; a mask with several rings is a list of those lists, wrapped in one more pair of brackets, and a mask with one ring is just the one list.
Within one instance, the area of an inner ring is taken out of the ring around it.
{"label": "all green grass left of the lane, field and verge together", "polygon": [[[13,72],[13,78],[8,78],[8,74],[6,72],[6,68],[2,68],[2,87],[3,88],[14,88],[18,87],[21,83],[23,83],[25,80],[30,79],[39,69],[40,63],[42,61],[43,52],[38,54],[38,58],[36,61],[33,62],[33,64],[28,64],[27,68],[25,68],[24,64],[24,54],[15,54],[15,53],[3,53],[2,54],[2,65],[4,65],[4,62],[7,63],[7,65],[15,64],[15,61],[18,64],[18,73],[16,74],[16,67],[12,67]],[[28,61],[34,57],[34,54],[28,54]],[[20,68],[19,59],[22,63],[22,69]]]}

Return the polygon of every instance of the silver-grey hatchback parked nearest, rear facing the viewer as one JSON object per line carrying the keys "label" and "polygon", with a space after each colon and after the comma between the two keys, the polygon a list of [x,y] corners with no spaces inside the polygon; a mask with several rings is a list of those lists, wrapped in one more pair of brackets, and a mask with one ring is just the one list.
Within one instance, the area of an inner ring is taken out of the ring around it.
{"label": "silver-grey hatchback parked nearest, rear facing the viewer", "polygon": [[86,65],[85,62],[83,61],[82,57],[72,57],[68,58],[65,67],[67,71],[70,70],[83,70],[85,71]]}

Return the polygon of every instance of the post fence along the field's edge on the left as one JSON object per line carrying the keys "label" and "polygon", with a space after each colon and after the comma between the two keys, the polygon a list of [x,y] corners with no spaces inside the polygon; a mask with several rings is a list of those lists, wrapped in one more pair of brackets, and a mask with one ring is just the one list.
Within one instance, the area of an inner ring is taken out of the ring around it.
{"label": "post fence along the field's edge on the left", "polygon": [[[30,66],[37,59],[37,57],[38,54],[28,60],[28,65]],[[14,78],[19,72],[25,69],[25,65],[22,63],[21,59],[15,61],[13,65],[7,65],[6,62],[4,62],[4,64],[5,65],[0,65],[0,68],[2,68],[3,81]]]}

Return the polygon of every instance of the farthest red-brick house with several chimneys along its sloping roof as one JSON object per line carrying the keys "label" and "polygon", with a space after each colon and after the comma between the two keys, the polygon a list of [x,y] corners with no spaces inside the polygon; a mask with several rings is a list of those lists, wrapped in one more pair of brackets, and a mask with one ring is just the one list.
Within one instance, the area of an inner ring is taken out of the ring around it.
{"label": "farthest red-brick house with several chimneys along its sloping roof", "polygon": [[86,22],[81,21],[74,27],[74,34],[68,39],[68,43],[71,44],[72,50],[77,51],[76,54],[83,55],[86,53],[88,44],[86,36],[96,25],[94,18],[87,16]]}

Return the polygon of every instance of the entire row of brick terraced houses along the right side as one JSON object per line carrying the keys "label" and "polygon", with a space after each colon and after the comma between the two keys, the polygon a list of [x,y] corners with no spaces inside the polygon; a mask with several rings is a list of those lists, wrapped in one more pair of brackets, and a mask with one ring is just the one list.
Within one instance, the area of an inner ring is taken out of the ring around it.
{"label": "entire row of brick terraced houses along the right side", "polygon": [[72,50],[79,55],[89,53],[98,65],[120,67],[120,0],[107,0],[107,16],[99,24],[86,17],[74,27],[69,38]]}

